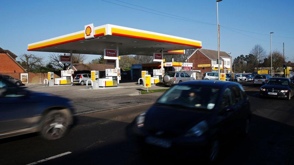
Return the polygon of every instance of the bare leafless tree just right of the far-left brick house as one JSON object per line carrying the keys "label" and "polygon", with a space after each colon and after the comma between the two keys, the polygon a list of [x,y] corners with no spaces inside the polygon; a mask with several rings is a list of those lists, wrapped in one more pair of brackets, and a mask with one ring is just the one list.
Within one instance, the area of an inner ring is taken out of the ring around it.
{"label": "bare leafless tree just right of the far-left brick house", "polygon": [[33,54],[23,54],[20,56],[20,60],[24,64],[27,71],[30,72],[32,69],[36,69],[40,65],[42,65],[42,57],[38,57]]}

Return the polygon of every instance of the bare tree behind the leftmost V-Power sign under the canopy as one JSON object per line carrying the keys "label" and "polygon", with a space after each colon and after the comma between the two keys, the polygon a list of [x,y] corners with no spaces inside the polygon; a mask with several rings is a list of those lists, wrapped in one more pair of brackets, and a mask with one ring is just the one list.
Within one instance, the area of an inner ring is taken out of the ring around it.
{"label": "bare tree behind the leftmost V-Power sign under the canopy", "polygon": [[[57,67],[60,68],[62,70],[66,70],[70,64],[65,64],[65,63],[59,63],[59,56],[63,55],[63,56],[70,56],[70,53],[52,53],[49,55],[49,63],[53,66],[53,67]],[[77,54],[77,53],[73,53],[73,60],[72,63],[80,63],[85,61],[87,58],[87,56],[85,54]]]}

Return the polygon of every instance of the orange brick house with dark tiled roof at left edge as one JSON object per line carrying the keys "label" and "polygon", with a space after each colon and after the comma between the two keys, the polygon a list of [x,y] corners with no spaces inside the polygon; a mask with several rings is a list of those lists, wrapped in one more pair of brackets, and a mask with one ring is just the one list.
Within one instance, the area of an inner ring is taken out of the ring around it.
{"label": "orange brick house with dark tiled roof at left edge", "polygon": [[[0,47],[0,74],[4,73],[26,73],[27,71],[16,62],[14,53]],[[19,78],[19,77],[18,77]]]}

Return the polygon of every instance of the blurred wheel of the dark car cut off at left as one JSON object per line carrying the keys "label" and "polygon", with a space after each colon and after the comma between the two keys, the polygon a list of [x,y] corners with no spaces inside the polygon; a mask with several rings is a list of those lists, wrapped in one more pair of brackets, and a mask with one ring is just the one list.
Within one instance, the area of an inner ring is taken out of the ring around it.
{"label": "blurred wheel of the dark car cut off at left", "polygon": [[72,117],[69,110],[52,110],[43,118],[41,135],[47,140],[59,139],[66,135],[71,122]]}

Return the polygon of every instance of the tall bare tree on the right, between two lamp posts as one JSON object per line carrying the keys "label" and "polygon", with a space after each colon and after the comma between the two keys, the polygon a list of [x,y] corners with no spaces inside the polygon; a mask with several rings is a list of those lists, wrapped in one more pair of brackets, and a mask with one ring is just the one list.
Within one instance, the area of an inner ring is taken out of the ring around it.
{"label": "tall bare tree on the right, between two lamp posts", "polygon": [[259,70],[261,63],[263,63],[264,59],[266,58],[266,50],[260,45],[256,44],[251,50],[250,54],[253,54],[255,58],[255,62],[252,63],[252,66],[254,68],[257,68]]}

